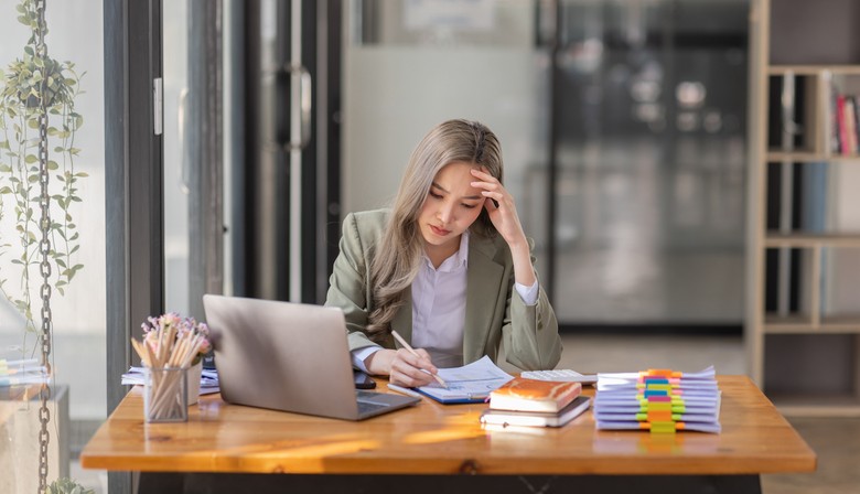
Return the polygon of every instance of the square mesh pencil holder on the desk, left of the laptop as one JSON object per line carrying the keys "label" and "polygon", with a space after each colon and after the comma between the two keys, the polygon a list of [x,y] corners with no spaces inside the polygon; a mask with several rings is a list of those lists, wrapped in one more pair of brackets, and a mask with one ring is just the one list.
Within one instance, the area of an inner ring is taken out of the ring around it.
{"label": "square mesh pencil holder on the desk, left of the laptop", "polygon": [[143,417],[147,422],[189,420],[189,369],[144,367]]}

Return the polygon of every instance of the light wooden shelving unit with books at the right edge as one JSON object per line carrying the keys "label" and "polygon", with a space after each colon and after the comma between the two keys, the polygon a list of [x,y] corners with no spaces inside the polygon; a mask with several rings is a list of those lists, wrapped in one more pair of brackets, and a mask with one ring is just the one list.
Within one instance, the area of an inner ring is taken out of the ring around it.
{"label": "light wooden shelving unit with books at the right edge", "polygon": [[[860,416],[860,270],[851,287],[857,303],[840,311],[827,305],[841,269],[835,253],[860,253],[860,229],[828,224],[820,214],[835,207],[829,184],[817,195],[803,189],[813,167],[825,174],[860,167],[860,152],[845,155],[834,146],[834,126],[848,121],[835,117],[834,88],[860,96],[860,36],[853,34],[860,4],[753,0],[751,9],[751,375],[786,415]],[[860,118],[856,124],[860,130]],[[806,206],[818,207],[814,226]]]}

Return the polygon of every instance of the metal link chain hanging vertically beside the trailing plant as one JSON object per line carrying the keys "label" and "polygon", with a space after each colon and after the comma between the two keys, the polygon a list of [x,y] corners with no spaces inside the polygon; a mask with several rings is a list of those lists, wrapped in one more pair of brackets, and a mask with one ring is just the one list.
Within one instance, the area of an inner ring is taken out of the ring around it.
{"label": "metal link chain hanging vertically beside the trailing plant", "polygon": [[[35,0],[35,11],[39,17],[39,39],[36,40],[36,58],[47,60],[47,46],[45,45],[45,0]],[[40,268],[42,271],[42,365],[47,368],[49,378],[53,374],[49,356],[51,355],[51,264],[49,262],[51,254],[51,196],[47,191],[47,74],[44,71],[50,69],[47,64],[42,67],[42,97],[39,108],[39,183],[41,193],[39,205],[42,210],[39,227],[42,233],[42,240],[39,244],[39,251],[42,254]],[[47,444],[51,436],[47,432],[47,423],[51,421],[51,411],[47,409],[47,400],[51,398],[51,387],[49,382],[42,384],[39,393],[40,408],[39,421],[42,427],[39,431],[39,494],[47,491]]]}

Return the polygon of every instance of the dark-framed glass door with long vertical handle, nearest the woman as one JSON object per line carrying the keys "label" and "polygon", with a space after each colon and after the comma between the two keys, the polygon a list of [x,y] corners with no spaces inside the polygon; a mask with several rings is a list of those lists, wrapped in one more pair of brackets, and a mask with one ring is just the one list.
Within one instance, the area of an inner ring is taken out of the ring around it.
{"label": "dark-framed glass door with long vertical handle, nearest the woman", "polygon": [[228,4],[226,286],[237,296],[316,300],[325,211],[316,204],[316,20],[327,3]]}

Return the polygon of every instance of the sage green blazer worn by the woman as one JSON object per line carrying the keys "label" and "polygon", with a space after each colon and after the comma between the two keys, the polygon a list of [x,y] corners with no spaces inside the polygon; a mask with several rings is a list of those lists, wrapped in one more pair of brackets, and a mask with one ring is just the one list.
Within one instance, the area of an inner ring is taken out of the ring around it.
{"label": "sage green blazer worn by the woman", "polygon": [[[374,308],[367,269],[389,213],[387,210],[351,213],[343,222],[341,254],[334,261],[325,305],[343,310],[351,351],[374,344],[365,331],[367,314]],[[473,233],[469,241],[463,363],[475,362],[484,355],[495,362],[504,341],[507,361],[518,368],[553,368],[561,357],[561,339],[542,287],[538,289],[537,304],[526,305],[514,289],[514,264],[505,240],[501,236],[491,239]],[[391,329],[411,343],[411,290],[407,290]],[[380,344],[396,348],[390,334]]]}

